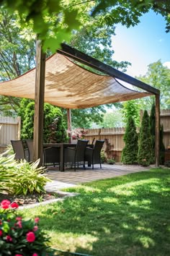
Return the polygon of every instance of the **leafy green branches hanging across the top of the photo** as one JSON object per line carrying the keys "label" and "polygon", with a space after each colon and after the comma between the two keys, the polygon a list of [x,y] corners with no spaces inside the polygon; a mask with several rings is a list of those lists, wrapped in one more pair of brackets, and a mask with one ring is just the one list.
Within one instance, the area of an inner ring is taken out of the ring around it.
{"label": "leafy green branches hanging across the top of the photo", "polygon": [[0,5],[19,13],[21,25],[32,27],[42,40],[44,51],[47,48],[55,51],[71,38],[73,30],[79,30],[84,22],[94,18],[102,26],[121,23],[130,27],[152,9],[165,17],[166,32],[170,30],[170,2],[166,0],[0,0]]}

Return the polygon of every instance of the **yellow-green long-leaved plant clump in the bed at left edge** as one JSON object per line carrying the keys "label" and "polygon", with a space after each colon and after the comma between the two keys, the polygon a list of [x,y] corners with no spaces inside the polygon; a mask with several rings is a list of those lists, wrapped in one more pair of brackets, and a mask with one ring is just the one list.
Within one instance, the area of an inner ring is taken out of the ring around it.
{"label": "yellow-green long-leaved plant clump in the bed at left edge", "polygon": [[45,176],[45,168],[39,167],[39,160],[35,163],[16,161],[14,155],[7,155],[7,151],[0,155],[0,193],[10,195],[27,195],[34,192],[45,192],[44,186],[50,179]]}

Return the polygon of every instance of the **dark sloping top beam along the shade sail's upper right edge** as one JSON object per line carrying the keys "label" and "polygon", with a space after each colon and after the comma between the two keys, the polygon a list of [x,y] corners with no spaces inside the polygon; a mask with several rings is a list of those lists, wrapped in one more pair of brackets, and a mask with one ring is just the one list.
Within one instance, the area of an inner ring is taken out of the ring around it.
{"label": "dark sloping top beam along the shade sail's upper right edge", "polygon": [[153,93],[155,95],[160,93],[158,89],[153,88],[151,85],[147,85],[145,82],[130,77],[128,74],[120,72],[119,70],[114,69],[113,67],[110,67],[109,65],[104,64],[101,61],[98,61],[97,59],[94,59],[91,56],[88,56],[81,51],[66,45],[65,43],[61,44],[61,49],[58,49],[58,53],[79,61],[82,64],[86,64],[87,66],[97,69],[100,72],[109,74],[111,77],[115,77],[124,82],[128,82],[130,85],[134,85],[140,89],[146,90],[149,93]]}

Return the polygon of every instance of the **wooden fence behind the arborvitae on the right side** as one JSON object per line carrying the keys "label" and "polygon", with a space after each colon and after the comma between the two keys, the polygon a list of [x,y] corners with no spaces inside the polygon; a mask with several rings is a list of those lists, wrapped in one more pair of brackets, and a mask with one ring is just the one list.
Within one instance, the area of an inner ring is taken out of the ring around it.
{"label": "wooden fence behind the arborvitae on the right side", "polygon": [[[143,111],[140,111],[143,116]],[[164,126],[164,145],[168,148],[170,145],[170,109],[161,110],[161,124]],[[139,132],[139,130],[138,130]],[[86,139],[92,142],[96,140],[106,139],[108,143],[104,143],[104,150],[109,151],[109,157],[114,157],[116,161],[120,161],[122,149],[125,146],[123,136],[125,135],[125,127],[121,128],[105,128],[105,129],[88,129]]]}

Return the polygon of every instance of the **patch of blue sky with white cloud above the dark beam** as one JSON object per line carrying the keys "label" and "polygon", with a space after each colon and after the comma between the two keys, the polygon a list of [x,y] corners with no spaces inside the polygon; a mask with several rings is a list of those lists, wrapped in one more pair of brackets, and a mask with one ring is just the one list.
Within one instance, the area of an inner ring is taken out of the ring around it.
{"label": "patch of blue sky with white cloud above the dark beam", "polygon": [[112,46],[116,61],[130,61],[132,67],[127,74],[146,74],[148,64],[158,59],[170,68],[170,33],[165,33],[166,22],[160,14],[149,12],[140,18],[135,27],[117,25],[116,35],[112,36]]}

